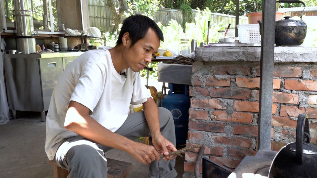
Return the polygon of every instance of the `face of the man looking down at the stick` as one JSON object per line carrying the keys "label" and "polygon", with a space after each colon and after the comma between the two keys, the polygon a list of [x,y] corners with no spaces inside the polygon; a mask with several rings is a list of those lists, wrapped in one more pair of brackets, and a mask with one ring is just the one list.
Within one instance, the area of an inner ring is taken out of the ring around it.
{"label": "face of the man looking down at the stick", "polygon": [[127,65],[134,72],[144,69],[147,63],[151,63],[152,55],[158,51],[159,45],[159,36],[151,28],[149,28],[145,37],[134,43],[132,47],[131,40],[129,40],[124,53]]}

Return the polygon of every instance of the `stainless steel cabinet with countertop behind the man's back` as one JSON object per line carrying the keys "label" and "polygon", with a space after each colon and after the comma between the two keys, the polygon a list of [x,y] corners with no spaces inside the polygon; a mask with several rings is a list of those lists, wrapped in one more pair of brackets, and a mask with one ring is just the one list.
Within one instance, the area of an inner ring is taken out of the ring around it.
{"label": "stainless steel cabinet with countertop behind the man's back", "polygon": [[13,117],[15,111],[36,111],[45,121],[59,76],[80,54],[5,54],[6,88]]}

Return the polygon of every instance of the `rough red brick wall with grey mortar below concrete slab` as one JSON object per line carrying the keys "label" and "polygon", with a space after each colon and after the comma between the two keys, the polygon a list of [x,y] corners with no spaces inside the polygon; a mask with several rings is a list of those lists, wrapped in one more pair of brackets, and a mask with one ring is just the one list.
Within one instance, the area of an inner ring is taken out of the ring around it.
{"label": "rough red brick wall with grey mortar below concrete slab", "polygon": [[[259,62],[194,62],[187,146],[204,145],[204,157],[231,169],[246,155],[256,154],[259,66]],[[317,142],[317,64],[275,64],[272,101],[268,130],[272,150],[295,141],[300,113],[308,114],[311,143]],[[184,178],[194,176],[198,151],[185,153]]]}

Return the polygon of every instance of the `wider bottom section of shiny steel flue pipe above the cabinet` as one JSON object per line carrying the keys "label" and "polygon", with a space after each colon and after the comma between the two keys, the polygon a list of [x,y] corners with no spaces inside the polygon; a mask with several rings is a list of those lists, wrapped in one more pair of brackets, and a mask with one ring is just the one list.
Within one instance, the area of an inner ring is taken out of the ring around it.
{"label": "wider bottom section of shiny steel flue pipe above the cabinet", "polygon": [[32,37],[16,37],[16,49],[17,52],[23,52],[23,54],[36,53],[36,42],[35,38]]}

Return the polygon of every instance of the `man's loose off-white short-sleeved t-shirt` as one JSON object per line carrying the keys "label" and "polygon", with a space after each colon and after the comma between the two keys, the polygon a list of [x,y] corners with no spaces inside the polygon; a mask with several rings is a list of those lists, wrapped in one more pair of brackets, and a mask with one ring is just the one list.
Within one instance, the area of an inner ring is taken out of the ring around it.
{"label": "man's loose off-white short-sleeved t-shirt", "polygon": [[64,127],[69,101],[86,106],[92,118],[115,132],[125,122],[130,104],[141,104],[151,97],[139,73],[130,68],[125,72],[127,78],[116,72],[106,49],[87,51],[66,67],[56,83],[46,117],[45,151],[49,160],[61,141],[77,136]]}

